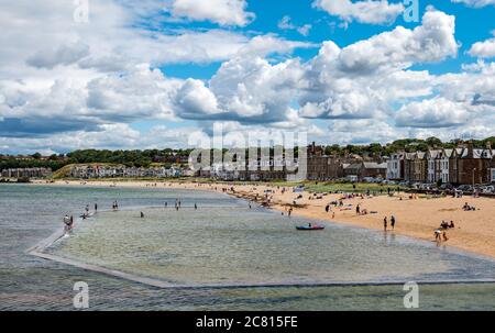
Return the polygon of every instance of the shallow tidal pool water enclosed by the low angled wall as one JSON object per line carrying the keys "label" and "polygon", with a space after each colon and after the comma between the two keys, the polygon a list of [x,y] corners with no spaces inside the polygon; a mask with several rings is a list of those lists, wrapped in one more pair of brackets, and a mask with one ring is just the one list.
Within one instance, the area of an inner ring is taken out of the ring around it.
{"label": "shallow tidal pool water enclosed by the low angled wall", "polygon": [[[217,193],[183,192],[174,201],[98,212],[48,252],[174,286],[388,284],[492,279],[495,263],[422,242],[309,221]],[[205,197],[206,196],[206,197]],[[208,199],[205,201],[205,199]],[[201,201],[202,200],[202,201]],[[194,209],[194,203],[198,209]],[[143,211],[144,219],[140,217]]]}

